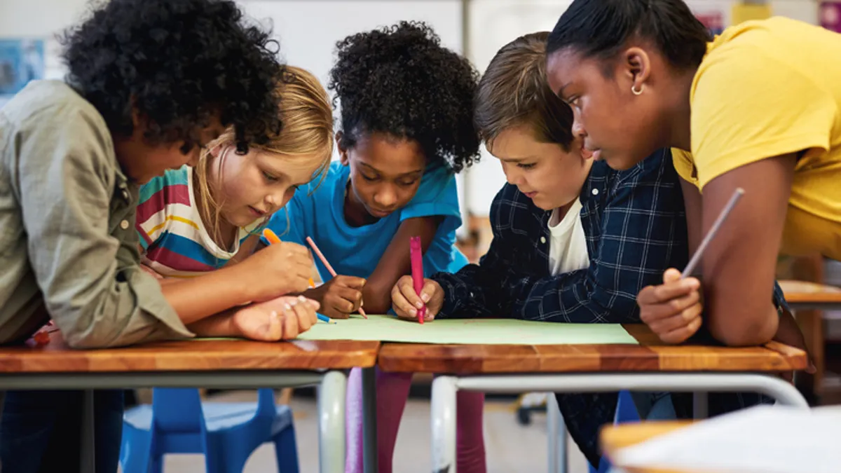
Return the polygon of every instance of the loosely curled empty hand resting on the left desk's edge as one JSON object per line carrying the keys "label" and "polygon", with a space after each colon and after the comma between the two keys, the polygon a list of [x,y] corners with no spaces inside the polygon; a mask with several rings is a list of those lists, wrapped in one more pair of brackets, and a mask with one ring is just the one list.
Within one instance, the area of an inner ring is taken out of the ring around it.
{"label": "loosely curled empty hand resting on the left desk's edge", "polygon": [[261,342],[277,342],[298,337],[318,321],[319,303],[302,295],[283,295],[251,304],[235,311],[231,318],[235,335]]}

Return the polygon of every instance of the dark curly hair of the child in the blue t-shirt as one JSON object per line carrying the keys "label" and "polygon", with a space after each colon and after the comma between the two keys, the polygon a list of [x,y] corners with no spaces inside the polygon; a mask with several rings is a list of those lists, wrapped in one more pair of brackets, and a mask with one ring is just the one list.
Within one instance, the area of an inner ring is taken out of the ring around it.
{"label": "dark curly hair of the child in the blue t-shirt", "polygon": [[442,160],[455,173],[479,160],[479,75],[429,26],[400,22],[348,36],[336,48],[328,88],[341,104],[341,147],[381,132],[417,141],[429,162]]}

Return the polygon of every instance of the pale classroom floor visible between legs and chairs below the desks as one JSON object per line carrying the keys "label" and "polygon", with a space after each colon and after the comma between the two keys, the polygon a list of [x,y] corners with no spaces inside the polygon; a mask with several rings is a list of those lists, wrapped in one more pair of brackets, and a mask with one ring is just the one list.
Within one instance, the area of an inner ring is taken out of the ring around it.
{"label": "pale classroom floor visible between legs and chairs below the desks", "polygon": [[[213,396],[214,401],[255,401],[253,391],[232,391]],[[318,471],[318,427],[315,399],[293,397],[292,408],[297,434],[301,473]],[[394,451],[394,471],[399,473],[429,473],[430,431],[429,401],[410,400]],[[487,401],[484,410],[484,443],[488,459],[488,473],[521,473],[547,471],[546,415],[535,413],[532,423],[521,426],[511,401]],[[574,444],[569,444],[569,473],[585,473],[587,463]],[[264,444],[246,464],[244,473],[274,473],[274,449]],[[202,473],[204,460],[200,455],[170,455],[164,463],[164,473]]]}

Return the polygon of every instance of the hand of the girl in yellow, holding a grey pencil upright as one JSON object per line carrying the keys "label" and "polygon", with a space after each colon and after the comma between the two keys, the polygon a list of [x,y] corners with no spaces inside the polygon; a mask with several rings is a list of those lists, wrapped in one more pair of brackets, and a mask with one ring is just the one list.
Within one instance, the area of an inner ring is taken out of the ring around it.
{"label": "hand of the girl in yellow, holding a grey pencil upright", "polygon": [[681,343],[701,327],[701,281],[680,279],[677,269],[663,274],[663,284],[637,295],[639,316],[665,343]]}

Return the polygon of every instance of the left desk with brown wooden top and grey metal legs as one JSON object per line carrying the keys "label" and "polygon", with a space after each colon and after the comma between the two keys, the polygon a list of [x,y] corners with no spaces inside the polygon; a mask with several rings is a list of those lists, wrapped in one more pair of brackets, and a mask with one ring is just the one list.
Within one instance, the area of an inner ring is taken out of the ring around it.
{"label": "left desk with brown wooden top and grey metal legs", "polygon": [[[0,348],[0,391],[86,390],[83,471],[93,471],[94,389],[283,388],[320,385],[320,470],[345,470],[346,375],[373,367],[379,342],[260,343],[201,340],[73,350],[53,334],[43,347]],[[371,422],[366,417],[366,422]],[[375,448],[375,447],[374,447]]]}

